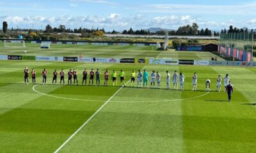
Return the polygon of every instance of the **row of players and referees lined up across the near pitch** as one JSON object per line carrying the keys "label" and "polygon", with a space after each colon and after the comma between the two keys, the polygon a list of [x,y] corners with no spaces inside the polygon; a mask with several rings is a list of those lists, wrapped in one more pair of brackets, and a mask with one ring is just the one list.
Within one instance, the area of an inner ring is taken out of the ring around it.
{"label": "row of players and referees lined up across the near pitch", "polygon": [[[52,78],[52,85],[56,85],[57,84],[57,77],[58,74],[60,75],[60,84],[65,85],[65,72],[63,71],[63,69],[61,69],[60,73],[57,72],[57,70],[55,69],[55,71],[52,73],[53,78]],[[86,69],[84,69],[83,71],[83,82],[82,85],[86,85],[87,84],[87,76],[90,75],[90,79],[89,79],[89,85],[93,85],[94,83],[94,78],[96,76],[96,85],[100,85],[100,71],[99,69],[97,69],[97,71],[94,71],[93,69],[90,71],[90,73],[88,73],[88,71]],[[31,77],[32,77],[32,82],[33,84],[36,84],[36,71],[35,69],[32,69],[31,71]],[[43,85],[46,84],[46,80],[47,80],[47,70],[44,68],[44,70],[42,71],[42,77],[43,77]],[[120,71],[120,74],[118,75],[116,73],[115,70],[113,70],[113,73],[111,74],[111,78],[113,81],[113,86],[117,85],[117,77],[120,77],[120,83],[121,86],[125,87],[125,73],[123,70]],[[150,76],[148,76],[148,72],[146,69],[144,69],[143,73],[141,72],[141,70],[138,70],[138,73],[135,72],[135,70],[132,70],[131,73],[131,84],[130,87],[134,87],[135,85],[135,80],[137,77],[137,87],[144,87],[144,88],[148,88],[148,81],[150,78],[150,87],[154,88],[155,87],[155,83],[157,82],[157,88],[161,89],[161,75],[160,73],[157,71],[152,71],[152,73],[150,74]],[[28,67],[26,67],[24,69],[24,82],[25,84],[28,84],[28,78],[29,78],[29,69]],[[78,85],[78,80],[77,80],[77,71],[76,69],[70,69],[68,71],[68,85],[72,85],[72,80],[74,80],[74,85]],[[109,71],[108,69],[106,69],[106,71],[104,72],[104,86],[108,86],[108,80],[109,80]],[[198,76],[196,75],[196,73],[194,73],[193,77],[193,89],[192,91],[196,91],[197,90],[197,80],[198,80]],[[180,90],[184,91],[184,82],[185,82],[185,76],[180,72],[180,74],[177,73],[177,71],[174,71],[173,73],[173,77],[172,77],[172,81],[173,81],[173,89],[178,90],[178,84],[180,83]],[[166,71],[166,83],[167,89],[170,89],[170,82],[171,82],[171,75],[169,73],[169,71]],[[178,83],[179,82],[179,83]],[[222,82],[222,78],[219,75],[217,78],[217,85],[216,85],[216,91],[221,91],[221,82]],[[228,74],[225,76],[224,78],[224,82],[225,82],[225,89],[228,85],[228,82],[230,82],[230,77],[228,77]],[[143,83],[143,85],[142,85]],[[207,79],[205,81],[205,91],[211,91],[211,80]]]}

